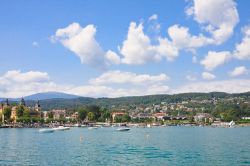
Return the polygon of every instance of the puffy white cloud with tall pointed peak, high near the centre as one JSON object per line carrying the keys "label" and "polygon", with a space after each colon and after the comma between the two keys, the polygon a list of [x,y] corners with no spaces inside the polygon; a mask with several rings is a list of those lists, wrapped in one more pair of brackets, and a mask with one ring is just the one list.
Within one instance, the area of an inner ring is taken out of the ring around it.
{"label": "puffy white cloud with tall pointed peak, high near the centre", "polygon": [[124,56],[123,63],[144,64],[160,61],[162,57],[172,60],[178,56],[178,49],[166,38],[159,38],[158,45],[152,45],[150,38],[144,34],[143,25],[131,22],[127,39],[123,42],[120,53]]}

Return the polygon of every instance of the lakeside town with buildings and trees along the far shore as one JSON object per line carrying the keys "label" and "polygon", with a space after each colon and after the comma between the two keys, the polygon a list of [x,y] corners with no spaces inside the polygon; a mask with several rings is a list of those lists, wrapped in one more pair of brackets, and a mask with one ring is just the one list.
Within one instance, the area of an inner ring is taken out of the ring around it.
{"label": "lakeside town with buildings and trees along the far shore", "polygon": [[[244,109],[248,112],[249,105],[248,98],[233,97],[176,103],[121,105],[110,108],[87,105],[72,110],[44,111],[39,100],[35,105],[28,106],[24,98],[21,98],[18,103],[10,103],[6,99],[0,105],[0,127],[250,126],[250,116],[244,115]],[[223,108],[223,106],[227,107]]]}

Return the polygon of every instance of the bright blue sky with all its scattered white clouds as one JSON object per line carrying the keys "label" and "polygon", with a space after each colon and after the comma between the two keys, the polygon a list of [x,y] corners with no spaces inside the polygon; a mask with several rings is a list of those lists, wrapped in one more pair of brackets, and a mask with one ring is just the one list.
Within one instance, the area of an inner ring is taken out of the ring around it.
{"label": "bright blue sky with all its scattered white clouds", "polygon": [[2,0],[0,97],[250,91],[250,1]]}

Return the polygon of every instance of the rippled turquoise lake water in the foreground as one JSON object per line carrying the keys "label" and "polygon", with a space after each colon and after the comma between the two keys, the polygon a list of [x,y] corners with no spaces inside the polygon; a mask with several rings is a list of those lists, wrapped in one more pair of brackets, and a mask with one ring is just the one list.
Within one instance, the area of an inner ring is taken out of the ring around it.
{"label": "rippled turquoise lake water in the foreground", "polygon": [[0,129],[0,165],[250,165],[250,127]]}

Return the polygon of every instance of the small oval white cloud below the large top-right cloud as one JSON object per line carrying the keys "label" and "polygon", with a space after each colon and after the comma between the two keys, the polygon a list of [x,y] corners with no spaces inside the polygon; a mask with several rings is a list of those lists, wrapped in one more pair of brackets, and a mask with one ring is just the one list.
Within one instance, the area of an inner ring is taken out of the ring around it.
{"label": "small oval white cloud below the large top-right cloud", "polygon": [[231,58],[231,53],[228,51],[214,52],[209,51],[205,59],[200,63],[206,70],[213,70],[217,66],[226,63]]}

